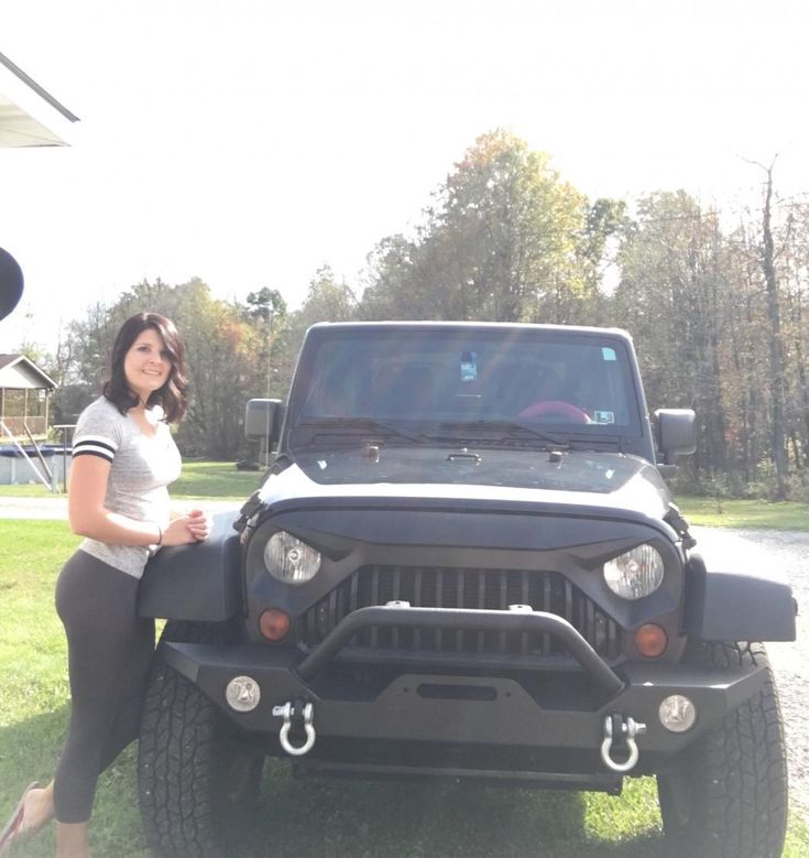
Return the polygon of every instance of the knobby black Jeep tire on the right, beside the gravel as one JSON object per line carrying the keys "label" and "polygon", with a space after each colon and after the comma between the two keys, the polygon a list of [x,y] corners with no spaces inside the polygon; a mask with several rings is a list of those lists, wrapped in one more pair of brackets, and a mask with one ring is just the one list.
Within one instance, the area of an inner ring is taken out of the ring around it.
{"label": "knobby black Jeep tire on the right, beside the gravel", "polygon": [[778,697],[761,643],[701,643],[692,664],[763,664],[762,689],[657,775],[663,828],[674,854],[777,858],[787,826],[787,764]]}

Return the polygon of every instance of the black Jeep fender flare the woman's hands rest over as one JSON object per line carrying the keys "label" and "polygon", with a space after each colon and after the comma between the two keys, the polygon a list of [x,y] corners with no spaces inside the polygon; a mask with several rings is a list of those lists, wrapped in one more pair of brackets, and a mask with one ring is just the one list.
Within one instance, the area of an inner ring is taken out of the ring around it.
{"label": "black Jeep fender flare the woman's hands rest over", "polygon": [[138,590],[141,617],[221,622],[241,611],[237,515],[217,513],[205,542],[161,549],[149,561]]}

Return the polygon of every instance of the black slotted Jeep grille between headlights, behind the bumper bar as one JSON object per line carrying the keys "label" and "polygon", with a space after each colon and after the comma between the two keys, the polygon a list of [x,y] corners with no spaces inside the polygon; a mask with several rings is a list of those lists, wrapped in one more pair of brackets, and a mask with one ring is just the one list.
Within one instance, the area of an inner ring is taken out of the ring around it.
{"label": "black slotted Jeep grille between headlights, behind the bumper bar", "polygon": [[[621,628],[600,611],[564,575],[517,569],[457,569],[411,566],[364,566],[314,605],[303,617],[302,643],[314,647],[350,612],[387,601],[413,607],[504,610],[531,605],[564,617],[608,661],[621,653]],[[425,652],[450,655],[566,656],[560,642],[546,633],[448,631],[371,628],[357,634],[354,650]]]}

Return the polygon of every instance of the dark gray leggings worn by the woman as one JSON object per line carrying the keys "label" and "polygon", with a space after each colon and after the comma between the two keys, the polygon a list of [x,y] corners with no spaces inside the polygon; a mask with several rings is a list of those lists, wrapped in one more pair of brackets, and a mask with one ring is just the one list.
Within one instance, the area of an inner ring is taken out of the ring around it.
{"label": "dark gray leggings worn by the woman", "polygon": [[61,823],[90,818],[99,774],[138,737],[154,620],[138,616],[138,578],[77,551],[56,582],[67,633],[70,727],[54,778]]}

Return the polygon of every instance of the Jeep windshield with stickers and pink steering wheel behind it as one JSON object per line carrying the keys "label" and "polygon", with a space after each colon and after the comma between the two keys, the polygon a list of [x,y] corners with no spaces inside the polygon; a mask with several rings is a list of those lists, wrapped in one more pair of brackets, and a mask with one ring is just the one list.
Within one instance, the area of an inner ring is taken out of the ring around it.
{"label": "Jeep windshield with stickers and pink steering wheel behind it", "polygon": [[292,449],[313,444],[615,447],[637,436],[624,340],[522,325],[327,325],[291,391]]}

